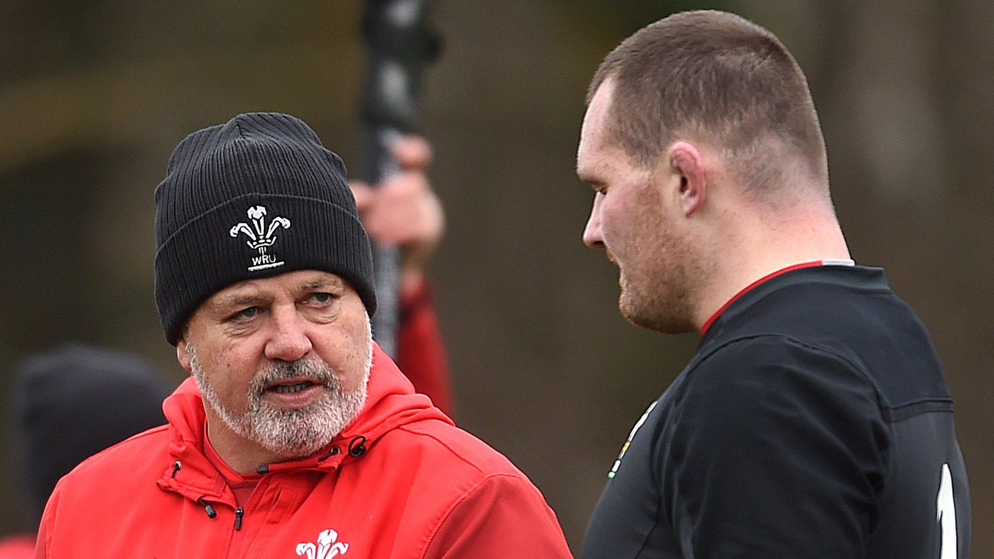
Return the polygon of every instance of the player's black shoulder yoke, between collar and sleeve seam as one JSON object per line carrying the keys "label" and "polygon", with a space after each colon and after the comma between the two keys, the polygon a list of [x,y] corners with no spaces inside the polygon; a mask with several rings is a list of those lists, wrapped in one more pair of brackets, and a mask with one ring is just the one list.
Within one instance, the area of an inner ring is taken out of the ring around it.
{"label": "player's black shoulder yoke, between collar and sleeve seam", "polygon": [[755,291],[723,314],[707,336],[708,350],[807,347],[834,354],[862,373],[888,406],[949,398],[927,329],[882,270],[802,269]]}

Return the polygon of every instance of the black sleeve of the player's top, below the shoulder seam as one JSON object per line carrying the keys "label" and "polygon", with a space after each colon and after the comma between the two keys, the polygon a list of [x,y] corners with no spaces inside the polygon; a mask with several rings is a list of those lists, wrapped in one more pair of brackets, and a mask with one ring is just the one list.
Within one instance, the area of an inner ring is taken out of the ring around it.
{"label": "black sleeve of the player's top, below the shoulder seam", "polygon": [[685,557],[863,557],[888,430],[870,381],[779,336],[691,372],[657,457]]}

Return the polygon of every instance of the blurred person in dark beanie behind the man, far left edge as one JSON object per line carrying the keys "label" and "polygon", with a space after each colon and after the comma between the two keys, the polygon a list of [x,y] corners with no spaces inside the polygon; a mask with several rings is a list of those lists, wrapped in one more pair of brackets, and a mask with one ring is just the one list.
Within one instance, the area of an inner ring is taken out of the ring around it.
{"label": "blurred person in dark beanie behind the man, far left edge", "polygon": [[[132,435],[164,425],[173,387],[143,359],[82,343],[30,356],[15,372],[12,464],[37,523],[60,477]],[[35,534],[0,540],[0,559],[35,556]]]}

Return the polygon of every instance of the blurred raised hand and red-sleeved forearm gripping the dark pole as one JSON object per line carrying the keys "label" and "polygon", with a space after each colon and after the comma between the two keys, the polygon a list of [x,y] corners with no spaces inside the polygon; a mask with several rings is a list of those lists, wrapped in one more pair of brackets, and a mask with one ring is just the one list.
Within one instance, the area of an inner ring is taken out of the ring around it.
{"label": "blurred raised hand and red-sleeved forearm gripping the dark pole", "polygon": [[394,158],[401,171],[382,184],[373,188],[350,181],[349,186],[370,239],[401,248],[397,363],[414,390],[452,417],[455,404],[448,360],[424,274],[445,231],[441,202],[424,174],[431,147],[421,137],[405,136],[394,147]]}

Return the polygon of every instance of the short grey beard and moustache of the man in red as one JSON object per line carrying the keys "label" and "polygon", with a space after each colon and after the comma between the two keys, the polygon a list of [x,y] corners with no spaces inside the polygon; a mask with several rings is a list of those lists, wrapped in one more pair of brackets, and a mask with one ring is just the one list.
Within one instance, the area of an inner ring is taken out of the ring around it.
{"label": "short grey beard and moustache of the man in red", "polygon": [[[189,341],[190,369],[200,387],[200,393],[218,416],[239,436],[283,458],[296,459],[316,453],[331,443],[362,411],[366,403],[373,350],[365,363],[362,382],[356,390],[346,391],[334,370],[320,358],[297,361],[274,361],[265,365],[248,385],[248,407],[238,414],[226,408],[210,383],[196,348]],[[306,408],[283,410],[262,400],[265,387],[273,382],[293,377],[309,377],[320,381],[326,397]]]}

